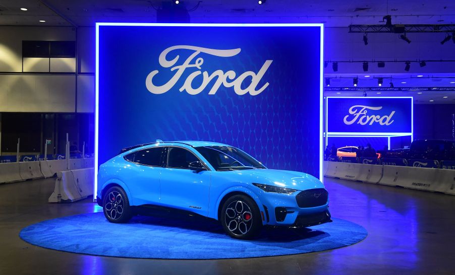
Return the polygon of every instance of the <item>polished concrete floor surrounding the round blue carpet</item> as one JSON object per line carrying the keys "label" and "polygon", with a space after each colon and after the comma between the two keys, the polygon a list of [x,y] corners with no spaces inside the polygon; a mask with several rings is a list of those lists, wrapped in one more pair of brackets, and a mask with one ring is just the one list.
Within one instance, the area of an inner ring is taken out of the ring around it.
{"label": "polished concrete floor surrounding the round blue carpet", "polygon": [[90,199],[47,203],[53,184],[51,178],[0,185],[0,274],[455,273],[455,196],[326,178],[332,216],[364,226],[369,235],[362,242],[291,256],[154,260],[60,252],[22,241],[18,234],[30,224],[100,210]]}

